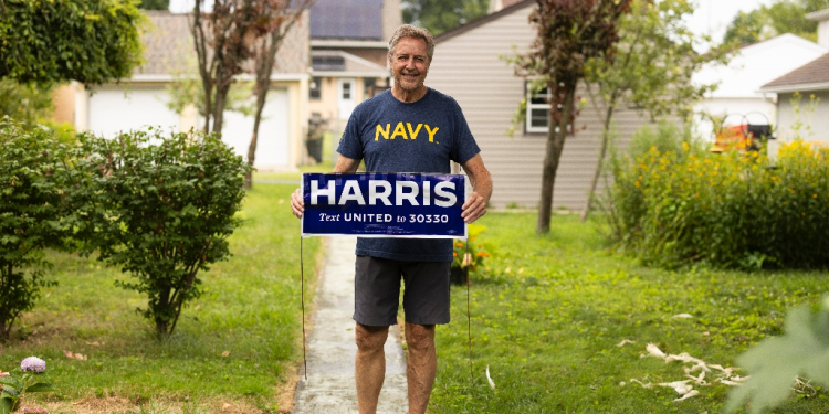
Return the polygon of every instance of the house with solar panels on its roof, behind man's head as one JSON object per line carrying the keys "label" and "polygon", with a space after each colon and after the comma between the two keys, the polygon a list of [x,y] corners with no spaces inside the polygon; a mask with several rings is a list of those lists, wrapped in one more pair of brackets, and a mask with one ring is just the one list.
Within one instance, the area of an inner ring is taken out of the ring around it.
{"label": "house with solar panels on its roof, behind man's head", "polygon": [[308,114],[342,131],[357,104],[388,87],[388,41],[400,0],[317,0],[311,6]]}

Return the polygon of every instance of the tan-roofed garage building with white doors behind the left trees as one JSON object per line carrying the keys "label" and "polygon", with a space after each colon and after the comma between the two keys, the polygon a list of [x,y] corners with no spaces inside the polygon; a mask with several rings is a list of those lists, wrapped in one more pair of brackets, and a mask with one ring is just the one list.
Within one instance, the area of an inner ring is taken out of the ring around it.
{"label": "tan-roofed garage building with white doors behind the left trees", "polygon": [[[189,14],[145,11],[153,26],[143,33],[146,63],[133,76],[105,85],[74,83],[74,124],[113,137],[122,131],[158,126],[172,131],[201,128],[195,107],[178,113],[168,107],[169,88],[188,76],[198,76]],[[304,156],[307,125],[308,24],[294,24],[276,59],[272,89],[260,126],[254,167],[260,170],[293,170]],[[242,76],[244,77],[244,76]],[[251,77],[252,78],[252,77]],[[237,153],[248,155],[253,117],[225,112],[222,140]]]}

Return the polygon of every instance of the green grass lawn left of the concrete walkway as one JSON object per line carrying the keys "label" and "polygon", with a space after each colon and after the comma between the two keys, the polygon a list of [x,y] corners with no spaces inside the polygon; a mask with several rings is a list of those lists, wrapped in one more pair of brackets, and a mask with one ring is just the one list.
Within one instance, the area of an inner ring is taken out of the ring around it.
{"label": "green grass lawn left of the concrete walkway", "polygon": [[[0,369],[29,355],[46,360],[62,394],[38,401],[52,413],[276,412],[290,402],[302,360],[300,221],[288,209],[295,188],[254,185],[245,223],[231,237],[233,256],[201,274],[204,294],[162,342],[135,311],[146,298],[114,287],[128,275],[50,253],[59,286],[44,289],[14,339],[0,344]],[[319,240],[304,243],[307,282]],[[64,350],[87,360],[69,359]]]}

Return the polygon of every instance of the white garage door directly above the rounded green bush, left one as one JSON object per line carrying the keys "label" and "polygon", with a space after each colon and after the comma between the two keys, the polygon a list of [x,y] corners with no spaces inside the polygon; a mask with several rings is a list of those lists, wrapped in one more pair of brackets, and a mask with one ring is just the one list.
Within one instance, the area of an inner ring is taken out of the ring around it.
{"label": "white garage door directly above the rounded green bush, left one", "polygon": [[148,126],[178,131],[179,116],[167,108],[164,88],[95,91],[90,96],[90,130],[113,138]]}

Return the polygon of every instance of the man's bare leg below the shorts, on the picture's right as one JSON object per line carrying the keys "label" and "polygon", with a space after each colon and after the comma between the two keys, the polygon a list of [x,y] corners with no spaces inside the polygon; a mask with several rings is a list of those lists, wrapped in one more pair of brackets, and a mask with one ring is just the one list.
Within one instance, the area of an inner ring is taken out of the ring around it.
{"label": "man's bare leg below the shorts, on the picture's right", "polygon": [[406,343],[409,361],[406,376],[409,383],[409,414],[423,414],[429,405],[438,354],[434,351],[434,325],[406,322]]}

